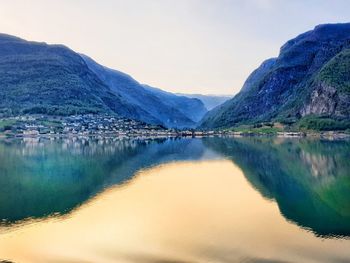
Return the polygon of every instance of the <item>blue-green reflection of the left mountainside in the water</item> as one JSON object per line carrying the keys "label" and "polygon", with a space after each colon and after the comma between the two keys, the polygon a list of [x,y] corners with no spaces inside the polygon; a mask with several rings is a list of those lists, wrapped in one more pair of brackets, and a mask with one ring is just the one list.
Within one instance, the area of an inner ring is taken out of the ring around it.
{"label": "blue-green reflection of the left mountainside in the water", "polygon": [[210,156],[201,140],[190,139],[0,141],[0,218],[9,224],[65,214],[142,168]]}

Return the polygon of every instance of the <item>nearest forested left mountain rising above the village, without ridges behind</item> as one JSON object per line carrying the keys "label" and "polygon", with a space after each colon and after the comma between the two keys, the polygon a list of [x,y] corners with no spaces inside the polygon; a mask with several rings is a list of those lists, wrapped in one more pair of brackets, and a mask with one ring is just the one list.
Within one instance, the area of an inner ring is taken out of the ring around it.
{"label": "nearest forested left mountain rising above the village, without ridges behind", "polygon": [[[72,50],[4,34],[0,35],[0,112],[117,113],[137,119],[147,114],[113,93]],[[152,116],[149,120],[156,121]]]}

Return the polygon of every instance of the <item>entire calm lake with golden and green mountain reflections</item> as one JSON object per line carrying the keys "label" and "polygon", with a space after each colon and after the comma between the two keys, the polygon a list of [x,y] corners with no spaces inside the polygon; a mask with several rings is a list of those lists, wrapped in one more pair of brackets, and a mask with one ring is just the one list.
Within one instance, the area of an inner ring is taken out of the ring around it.
{"label": "entire calm lake with golden and green mountain reflections", "polygon": [[350,142],[0,141],[0,262],[350,262]]}

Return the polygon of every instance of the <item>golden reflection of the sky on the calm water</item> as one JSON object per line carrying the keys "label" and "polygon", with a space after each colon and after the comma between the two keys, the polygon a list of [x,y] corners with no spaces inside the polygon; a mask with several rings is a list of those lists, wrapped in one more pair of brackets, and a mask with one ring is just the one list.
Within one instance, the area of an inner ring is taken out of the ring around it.
{"label": "golden reflection of the sky on the calm water", "polygon": [[350,259],[349,240],[320,239],[287,222],[276,203],[253,190],[230,161],[141,171],[68,218],[0,232],[0,259],[14,262],[330,262],[335,257]]}

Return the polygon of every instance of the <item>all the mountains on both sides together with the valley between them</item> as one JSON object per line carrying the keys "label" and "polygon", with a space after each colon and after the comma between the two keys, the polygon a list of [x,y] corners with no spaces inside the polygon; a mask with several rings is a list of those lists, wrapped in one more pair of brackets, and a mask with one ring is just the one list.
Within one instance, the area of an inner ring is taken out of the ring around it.
{"label": "all the mountains on both sides together with the valley between them", "polygon": [[85,115],[166,129],[348,132],[350,23],[287,41],[232,97],[170,93],[63,45],[0,34],[0,115],[2,132],[23,116]]}

